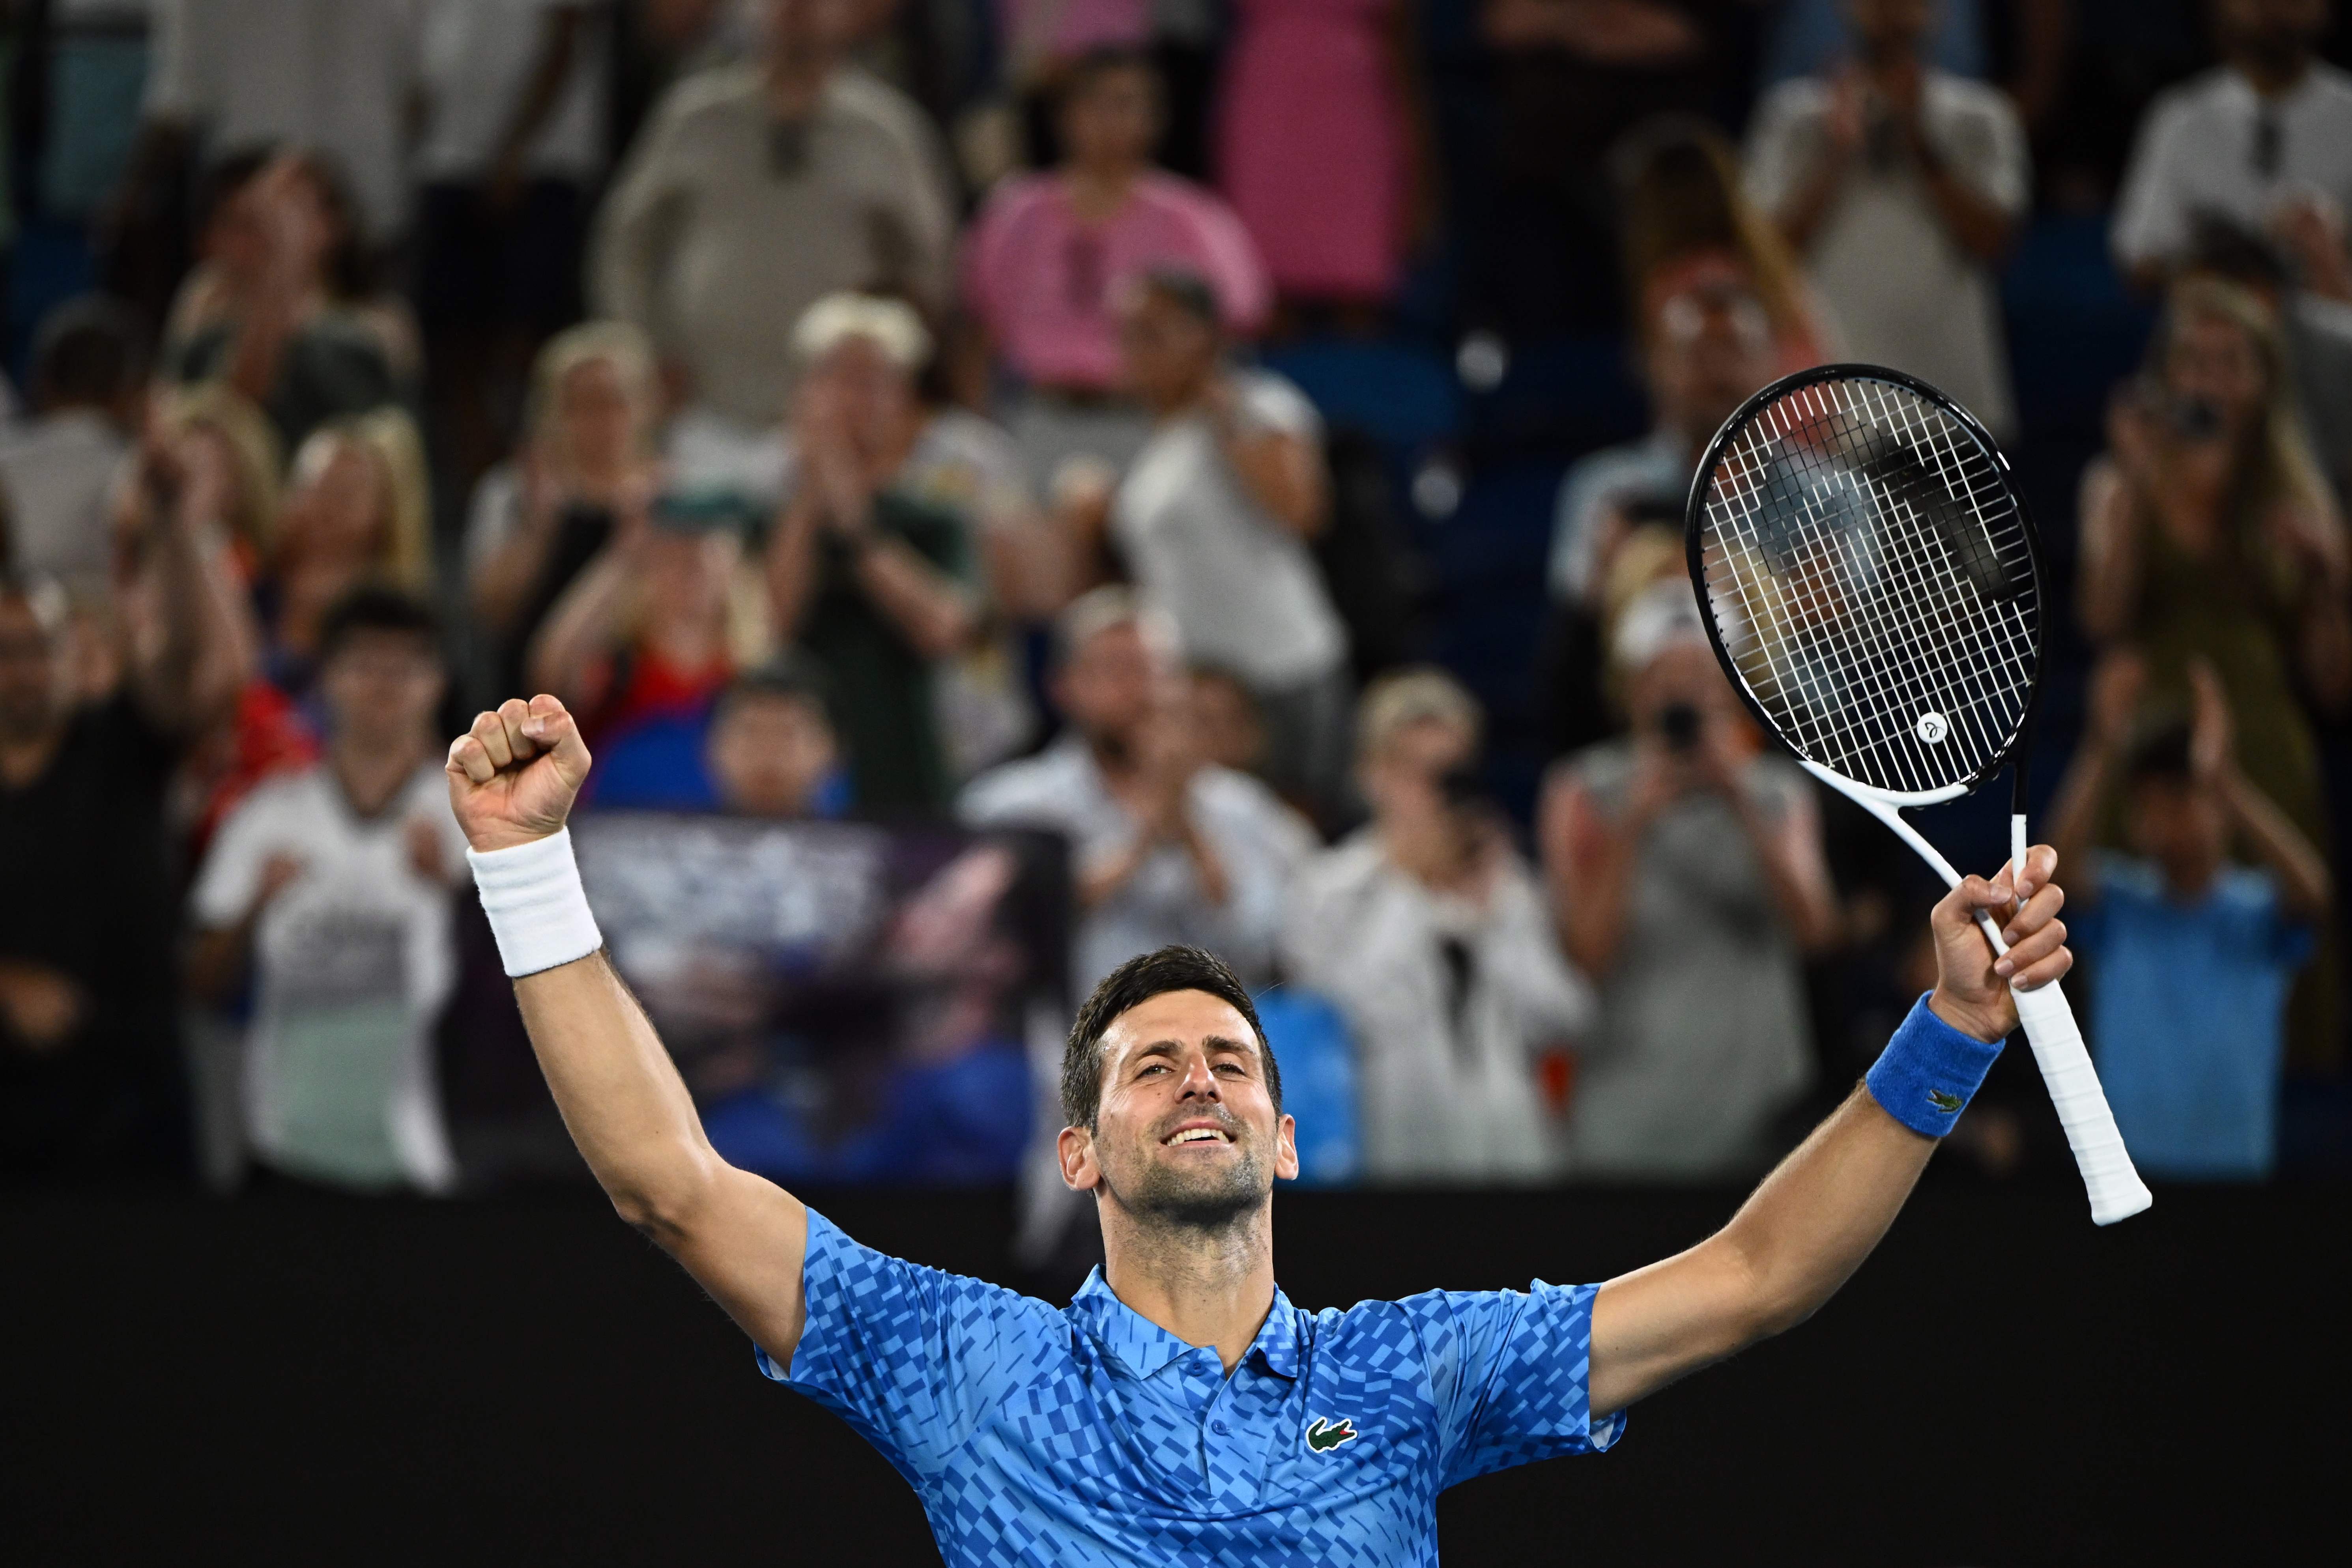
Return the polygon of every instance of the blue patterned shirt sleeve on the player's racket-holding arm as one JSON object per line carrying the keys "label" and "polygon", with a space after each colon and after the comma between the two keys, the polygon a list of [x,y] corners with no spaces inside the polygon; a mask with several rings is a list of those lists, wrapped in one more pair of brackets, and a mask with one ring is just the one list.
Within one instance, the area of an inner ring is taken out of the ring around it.
{"label": "blue patterned shirt sleeve on the player's racket-holding arm", "polygon": [[1430,1291],[1402,1307],[1421,1328],[1437,1406],[1437,1486],[1512,1465],[1599,1453],[1625,1413],[1592,1420],[1592,1298],[1599,1286]]}

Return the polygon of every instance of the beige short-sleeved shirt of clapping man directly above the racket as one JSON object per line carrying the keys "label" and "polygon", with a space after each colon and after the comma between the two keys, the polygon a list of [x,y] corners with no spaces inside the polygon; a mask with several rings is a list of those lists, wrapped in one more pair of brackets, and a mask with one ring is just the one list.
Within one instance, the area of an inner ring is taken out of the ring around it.
{"label": "beige short-sleeved shirt of clapping man directly above the racket", "polygon": [[[1766,94],[1748,136],[1748,195],[1759,207],[1778,212],[1806,181],[1828,153],[1828,118],[1820,78]],[[1919,120],[1955,176],[2009,216],[2025,212],[2032,160],[1999,89],[1929,71]],[[1992,268],[1952,240],[1910,158],[1858,153],[1804,261],[1856,360],[1943,388],[1994,435],[2016,430]]]}

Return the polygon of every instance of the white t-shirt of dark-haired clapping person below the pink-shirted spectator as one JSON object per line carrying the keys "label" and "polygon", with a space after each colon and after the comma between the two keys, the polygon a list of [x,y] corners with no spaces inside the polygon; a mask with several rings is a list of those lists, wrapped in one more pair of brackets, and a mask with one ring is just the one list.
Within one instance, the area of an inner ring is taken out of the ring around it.
{"label": "white t-shirt of dark-haired clapping person below the pink-shirted spectator", "polygon": [[[1282,376],[1235,381],[1247,425],[1322,435],[1315,404]],[[1348,658],[1348,630],[1305,541],[1249,496],[1204,414],[1152,430],[1110,503],[1110,529],[1136,583],[1176,621],[1190,663],[1279,691]]]}

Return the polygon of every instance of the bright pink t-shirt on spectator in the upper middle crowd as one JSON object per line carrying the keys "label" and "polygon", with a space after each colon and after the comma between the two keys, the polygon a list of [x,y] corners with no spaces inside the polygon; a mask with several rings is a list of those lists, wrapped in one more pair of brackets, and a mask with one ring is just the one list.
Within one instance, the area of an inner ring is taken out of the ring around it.
{"label": "bright pink t-shirt on spectator in the upper middle crowd", "polygon": [[1265,263],[1242,221],[1209,190],[1157,169],[1103,223],[1080,223],[1058,174],[1002,181],[964,240],[964,301],[1023,378],[1112,388],[1120,287],[1157,266],[1207,277],[1228,331],[1265,324]]}

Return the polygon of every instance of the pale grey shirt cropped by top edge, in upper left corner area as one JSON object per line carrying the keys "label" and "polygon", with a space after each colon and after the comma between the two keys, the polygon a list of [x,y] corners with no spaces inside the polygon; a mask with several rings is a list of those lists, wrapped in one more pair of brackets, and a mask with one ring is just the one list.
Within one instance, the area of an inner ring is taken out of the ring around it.
{"label": "pale grey shirt cropped by top edge, in upper left corner area", "polygon": [[153,0],[146,113],[198,122],[212,150],[294,141],[332,153],[360,228],[407,226],[402,148],[416,82],[414,0]]}

